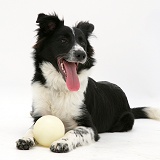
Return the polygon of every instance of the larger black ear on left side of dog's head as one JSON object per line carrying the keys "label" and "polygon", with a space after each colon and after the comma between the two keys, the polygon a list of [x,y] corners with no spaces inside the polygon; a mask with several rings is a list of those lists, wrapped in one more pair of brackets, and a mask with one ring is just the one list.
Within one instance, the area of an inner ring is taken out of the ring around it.
{"label": "larger black ear on left side of dog's head", "polygon": [[56,14],[45,15],[44,13],[38,15],[36,23],[39,25],[39,32],[41,34],[47,34],[54,31],[57,27],[64,25],[64,21],[60,20]]}

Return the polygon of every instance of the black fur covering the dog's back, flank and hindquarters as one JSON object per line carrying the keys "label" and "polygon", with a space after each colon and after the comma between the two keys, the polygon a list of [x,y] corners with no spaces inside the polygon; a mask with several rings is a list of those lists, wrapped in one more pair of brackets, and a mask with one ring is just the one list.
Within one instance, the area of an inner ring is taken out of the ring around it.
{"label": "black fur covering the dog's back, flank and hindquarters", "polygon": [[85,97],[85,104],[99,133],[132,129],[133,114],[125,93],[117,85],[89,78]]}

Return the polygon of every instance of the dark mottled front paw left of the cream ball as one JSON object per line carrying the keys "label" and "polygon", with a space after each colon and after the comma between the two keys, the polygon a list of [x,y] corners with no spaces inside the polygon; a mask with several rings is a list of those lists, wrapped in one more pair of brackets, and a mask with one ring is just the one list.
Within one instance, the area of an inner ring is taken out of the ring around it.
{"label": "dark mottled front paw left of the cream ball", "polygon": [[20,150],[29,150],[31,147],[35,145],[34,139],[19,139],[16,142],[16,147]]}

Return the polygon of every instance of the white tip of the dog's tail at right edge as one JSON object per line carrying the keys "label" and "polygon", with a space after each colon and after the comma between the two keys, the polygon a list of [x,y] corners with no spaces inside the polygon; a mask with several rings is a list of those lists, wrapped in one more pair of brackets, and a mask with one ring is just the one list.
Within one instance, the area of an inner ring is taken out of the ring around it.
{"label": "white tip of the dog's tail at right edge", "polygon": [[149,118],[160,121],[160,109],[147,107],[147,108],[144,108],[143,111],[147,113],[147,116]]}

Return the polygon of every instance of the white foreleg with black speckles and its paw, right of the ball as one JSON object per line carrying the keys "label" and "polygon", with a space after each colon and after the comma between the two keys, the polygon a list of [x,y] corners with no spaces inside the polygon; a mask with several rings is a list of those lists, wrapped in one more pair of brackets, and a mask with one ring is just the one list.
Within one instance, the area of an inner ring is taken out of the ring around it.
{"label": "white foreleg with black speckles and its paw, right of the ball", "polygon": [[[96,138],[97,136],[97,138]],[[52,143],[50,150],[57,153],[65,153],[78,146],[90,144],[98,140],[98,135],[90,127],[79,126],[68,131],[64,137]]]}

